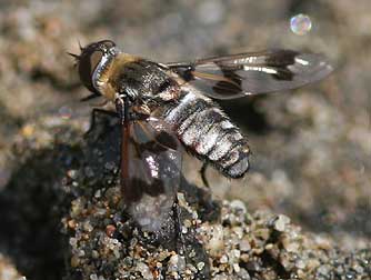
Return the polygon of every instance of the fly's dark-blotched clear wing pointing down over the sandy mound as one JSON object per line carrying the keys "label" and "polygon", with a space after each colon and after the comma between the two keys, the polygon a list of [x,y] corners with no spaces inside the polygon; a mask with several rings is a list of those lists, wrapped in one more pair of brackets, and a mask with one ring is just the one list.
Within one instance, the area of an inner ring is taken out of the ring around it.
{"label": "fly's dark-blotched clear wing pointing down over the sandy mound", "polygon": [[123,126],[121,186],[126,206],[144,230],[169,218],[180,183],[181,144],[162,121],[148,117]]}

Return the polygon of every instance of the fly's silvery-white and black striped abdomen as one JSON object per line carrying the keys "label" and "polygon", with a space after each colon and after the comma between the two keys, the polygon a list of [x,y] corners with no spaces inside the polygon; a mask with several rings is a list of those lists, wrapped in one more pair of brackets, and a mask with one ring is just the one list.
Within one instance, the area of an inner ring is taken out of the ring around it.
{"label": "fly's silvery-white and black striped abdomen", "polygon": [[248,171],[247,140],[209,98],[183,90],[164,119],[189,151],[212,163],[225,177],[240,178]]}

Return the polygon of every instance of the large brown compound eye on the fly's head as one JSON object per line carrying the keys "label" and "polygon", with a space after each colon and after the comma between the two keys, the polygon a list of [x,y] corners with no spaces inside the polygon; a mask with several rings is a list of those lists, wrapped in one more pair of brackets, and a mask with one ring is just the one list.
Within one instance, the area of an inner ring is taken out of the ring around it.
{"label": "large brown compound eye on the fly's head", "polygon": [[79,61],[79,74],[82,83],[92,92],[97,92],[93,87],[92,77],[93,73],[102,60],[103,51],[100,49],[87,49],[86,53],[80,56]]}

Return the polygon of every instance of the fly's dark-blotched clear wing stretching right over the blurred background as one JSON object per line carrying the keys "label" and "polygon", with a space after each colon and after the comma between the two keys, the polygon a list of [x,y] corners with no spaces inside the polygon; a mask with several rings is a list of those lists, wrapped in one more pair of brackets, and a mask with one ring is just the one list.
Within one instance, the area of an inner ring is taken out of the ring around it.
{"label": "fly's dark-blotched clear wing stretching right over the blurred background", "polygon": [[292,50],[207,58],[168,67],[214,99],[294,89],[321,80],[332,71],[323,56]]}

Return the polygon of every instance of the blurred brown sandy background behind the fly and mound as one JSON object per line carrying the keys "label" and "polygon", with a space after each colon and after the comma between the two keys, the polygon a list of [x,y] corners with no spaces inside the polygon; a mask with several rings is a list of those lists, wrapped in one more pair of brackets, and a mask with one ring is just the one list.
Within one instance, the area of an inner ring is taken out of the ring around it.
{"label": "blurred brown sandy background behind the fly and mound", "polygon": [[[308,18],[292,19],[300,13]],[[67,54],[79,53],[79,42],[111,39],[162,62],[269,48],[320,52],[335,68],[325,80],[221,103],[249,138],[252,168],[242,180],[207,176],[219,198],[285,213],[349,250],[364,248],[371,241],[370,14],[369,0],[2,0],[0,191],[18,164],[11,147],[30,122],[54,116],[89,126],[91,108],[79,102],[88,91]],[[184,161],[187,178],[199,186],[200,167]]]}

